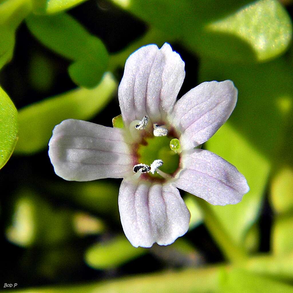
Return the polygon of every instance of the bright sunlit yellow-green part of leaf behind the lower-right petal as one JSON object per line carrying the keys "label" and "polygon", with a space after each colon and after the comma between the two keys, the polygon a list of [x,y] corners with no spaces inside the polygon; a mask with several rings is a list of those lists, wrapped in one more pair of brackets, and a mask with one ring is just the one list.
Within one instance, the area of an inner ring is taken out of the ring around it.
{"label": "bright sunlit yellow-green part of leaf behind the lower-right petal", "polygon": [[249,227],[258,217],[270,164],[228,122],[206,142],[205,146],[234,164],[246,177],[250,187],[250,191],[237,205],[211,205],[226,232],[236,243],[243,245]]}

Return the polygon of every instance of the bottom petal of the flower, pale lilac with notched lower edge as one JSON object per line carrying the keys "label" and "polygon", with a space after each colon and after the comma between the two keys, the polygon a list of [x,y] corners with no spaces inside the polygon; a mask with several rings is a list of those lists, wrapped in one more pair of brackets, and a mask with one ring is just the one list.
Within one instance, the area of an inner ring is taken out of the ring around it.
{"label": "bottom petal of the flower, pale lilac with notched lower edge", "polygon": [[168,245],[188,230],[190,213],[172,185],[123,180],[118,205],[124,233],[134,247]]}

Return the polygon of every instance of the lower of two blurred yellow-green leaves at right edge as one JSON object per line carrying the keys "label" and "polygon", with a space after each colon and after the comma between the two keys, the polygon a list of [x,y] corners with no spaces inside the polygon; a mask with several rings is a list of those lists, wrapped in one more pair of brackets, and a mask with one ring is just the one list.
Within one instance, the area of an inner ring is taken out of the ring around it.
{"label": "lower of two blurred yellow-green leaves at right edge", "polygon": [[[292,193],[292,190],[291,190]],[[278,216],[272,226],[271,247],[275,255],[293,253],[293,216]]]}

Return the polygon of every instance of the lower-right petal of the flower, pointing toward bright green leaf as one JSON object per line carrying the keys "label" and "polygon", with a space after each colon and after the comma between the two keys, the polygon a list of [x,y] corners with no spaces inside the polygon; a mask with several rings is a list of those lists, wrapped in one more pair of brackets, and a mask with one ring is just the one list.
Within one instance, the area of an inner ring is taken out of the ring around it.
{"label": "lower-right petal of the flower, pointing toward bright green leaf", "polygon": [[236,167],[210,151],[182,152],[182,168],[174,185],[212,205],[236,204],[249,191]]}

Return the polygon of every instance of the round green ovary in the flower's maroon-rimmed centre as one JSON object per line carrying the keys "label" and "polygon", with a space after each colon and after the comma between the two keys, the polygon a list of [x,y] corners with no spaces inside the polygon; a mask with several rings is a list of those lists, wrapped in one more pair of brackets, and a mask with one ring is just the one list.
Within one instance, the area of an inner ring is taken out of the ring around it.
{"label": "round green ovary in the flower's maroon-rimmed centre", "polygon": [[[170,149],[170,141],[173,137],[149,137],[146,145],[139,145],[137,150],[138,162],[151,165],[154,160],[161,159],[164,163],[159,169],[165,173],[174,173],[179,166],[179,155]],[[161,177],[157,173],[150,176]]]}

